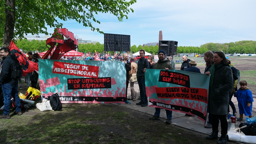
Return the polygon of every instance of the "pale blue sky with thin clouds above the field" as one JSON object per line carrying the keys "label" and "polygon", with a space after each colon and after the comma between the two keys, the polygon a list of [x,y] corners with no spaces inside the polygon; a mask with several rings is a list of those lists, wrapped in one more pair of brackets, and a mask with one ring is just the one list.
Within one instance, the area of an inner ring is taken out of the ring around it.
{"label": "pale blue sky with thin clouds above the field", "polygon": [[[98,14],[95,24],[104,33],[131,35],[132,45],[163,40],[178,41],[178,46],[205,43],[256,41],[256,0],[137,0],[134,12],[119,22],[111,14]],[[104,35],[83,27],[75,20],[63,28],[83,40],[104,43]],[[48,29],[53,33],[53,29]]]}

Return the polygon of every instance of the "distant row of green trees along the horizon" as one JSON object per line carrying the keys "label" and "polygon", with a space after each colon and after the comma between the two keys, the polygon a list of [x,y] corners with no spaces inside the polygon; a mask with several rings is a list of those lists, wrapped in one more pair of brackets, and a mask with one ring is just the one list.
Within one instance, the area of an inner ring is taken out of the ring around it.
{"label": "distant row of green trees along the horizon", "polygon": [[[38,50],[39,53],[48,50],[45,46],[46,41],[38,41],[32,40],[28,41],[27,39],[18,40],[15,42],[18,48],[23,49],[23,52],[36,52]],[[131,53],[136,53],[140,49],[144,49],[148,53],[152,53],[153,55],[157,55],[158,53],[158,45],[155,46],[144,46],[136,45],[131,46]],[[94,53],[103,53],[104,52],[104,44],[99,42],[87,43],[87,44],[78,44],[78,51],[84,53],[85,51]],[[230,43],[206,43],[204,45],[198,46],[178,46],[177,53],[196,53],[196,54],[204,54],[208,50],[212,51],[223,51],[225,54],[234,54],[234,53],[255,53],[256,52],[256,41],[239,41],[239,42],[230,42]],[[106,52],[104,52],[106,53]],[[109,54],[114,55],[114,52],[108,52]],[[117,52],[115,52],[117,53]],[[122,53],[122,52],[121,52]]]}

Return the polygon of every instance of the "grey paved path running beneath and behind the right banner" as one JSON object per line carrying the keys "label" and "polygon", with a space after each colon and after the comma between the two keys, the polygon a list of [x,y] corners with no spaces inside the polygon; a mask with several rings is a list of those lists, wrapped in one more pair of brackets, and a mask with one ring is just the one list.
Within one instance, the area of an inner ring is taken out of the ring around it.
{"label": "grey paved path running beneath and behind the right banner", "polygon": [[[128,96],[131,95],[131,91],[130,90],[131,89],[130,89],[130,86],[129,86],[128,87],[128,92],[127,92]],[[137,82],[134,83],[134,90],[135,91],[139,90],[139,85],[138,85]],[[256,98],[253,98],[253,100],[254,100],[254,102],[256,102]],[[118,105],[118,106],[127,107],[129,109],[137,110],[137,111],[140,111],[142,113],[150,114],[152,116],[155,113],[155,108],[154,107],[141,107],[141,106],[137,106],[136,103],[140,102],[139,99],[136,100],[135,102],[133,102],[132,100],[130,100],[129,102],[131,102],[131,105],[129,105],[129,104],[121,104],[121,105]],[[234,96],[232,97],[232,102],[236,106],[237,116],[239,117],[238,102],[237,102],[237,99],[234,98]],[[230,109],[231,109],[231,107],[230,107]],[[256,115],[256,104],[255,103],[253,103],[252,115],[253,116]],[[150,118],[150,117],[148,117],[148,118]],[[166,120],[166,113],[165,113],[164,109],[161,110],[160,118],[161,118],[160,119],[161,121],[165,122],[165,120]],[[245,118],[246,118],[246,116],[244,116],[244,120],[245,120]],[[244,122],[244,121],[242,121],[242,122]],[[237,122],[237,123],[238,123],[238,125],[240,124],[240,122]],[[212,129],[204,128],[204,122],[202,120],[200,120],[199,118],[196,118],[196,117],[185,117],[184,113],[179,113],[179,112],[176,112],[176,111],[173,111],[172,124],[180,126],[182,128],[194,130],[194,131],[200,132],[200,133],[211,134],[211,132],[212,132]],[[220,126],[221,125],[219,125],[219,137],[221,136],[221,134],[220,134],[221,127]]]}

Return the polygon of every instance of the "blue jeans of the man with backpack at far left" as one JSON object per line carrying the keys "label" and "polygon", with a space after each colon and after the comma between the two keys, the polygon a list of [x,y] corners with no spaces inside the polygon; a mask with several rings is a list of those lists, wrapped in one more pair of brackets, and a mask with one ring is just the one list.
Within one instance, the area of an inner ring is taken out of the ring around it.
{"label": "blue jeans of the man with backpack at far left", "polygon": [[10,114],[11,97],[14,98],[16,112],[21,111],[20,99],[18,95],[18,84],[3,84],[2,90],[4,94],[4,115]]}

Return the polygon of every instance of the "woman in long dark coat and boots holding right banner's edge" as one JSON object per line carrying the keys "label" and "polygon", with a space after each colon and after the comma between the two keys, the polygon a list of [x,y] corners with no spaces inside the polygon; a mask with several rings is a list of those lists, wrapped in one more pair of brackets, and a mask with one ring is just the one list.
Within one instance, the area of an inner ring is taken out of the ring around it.
{"label": "woman in long dark coat and boots holding right banner's edge", "polygon": [[[229,106],[229,90],[233,88],[233,75],[231,68],[226,63],[226,57],[223,52],[215,52],[213,57],[214,64],[210,72],[206,75],[210,76],[208,109],[207,112],[212,114],[212,133],[206,139],[218,139],[219,120],[221,121],[221,137],[217,141],[218,144],[227,142],[227,107]],[[218,120],[219,119],[219,120]]]}

